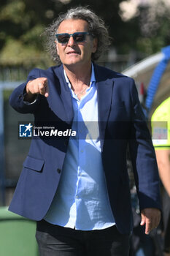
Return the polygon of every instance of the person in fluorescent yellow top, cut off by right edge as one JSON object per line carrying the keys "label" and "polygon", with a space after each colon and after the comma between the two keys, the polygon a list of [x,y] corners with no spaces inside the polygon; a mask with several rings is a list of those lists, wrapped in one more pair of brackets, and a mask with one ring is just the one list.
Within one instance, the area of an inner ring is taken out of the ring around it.
{"label": "person in fluorescent yellow top, cut off by right edge", "polygon": [[163,252],[170,256],[170,97],[152,114],[152,138],[163,184]]}

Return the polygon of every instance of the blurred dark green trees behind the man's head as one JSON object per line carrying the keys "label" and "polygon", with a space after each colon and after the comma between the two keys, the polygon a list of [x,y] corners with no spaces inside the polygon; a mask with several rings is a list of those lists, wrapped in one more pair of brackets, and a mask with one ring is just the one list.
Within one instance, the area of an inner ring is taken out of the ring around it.
{"label": "blurred dark green trees behind the man's head", "polygon": [[43,49],[41,34],[58,17],[58,13],[79,5],[90,7],[105,20],[112,45],[99,62],[121,71],[170,44],[169,2],[1,0],[0,80],[23,80],[33,67],[53,65]]}

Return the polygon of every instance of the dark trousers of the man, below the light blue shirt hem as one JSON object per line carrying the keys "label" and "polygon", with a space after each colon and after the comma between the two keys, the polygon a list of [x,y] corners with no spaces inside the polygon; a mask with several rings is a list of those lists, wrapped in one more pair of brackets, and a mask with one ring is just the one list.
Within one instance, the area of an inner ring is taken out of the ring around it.
{"label": "dark trousers of the man, below the light blue shirt hem", "polygon": [[82,231],[45,220],[37,222],[36,241],[40,256],[128,256],[130,235],[117,227]]}

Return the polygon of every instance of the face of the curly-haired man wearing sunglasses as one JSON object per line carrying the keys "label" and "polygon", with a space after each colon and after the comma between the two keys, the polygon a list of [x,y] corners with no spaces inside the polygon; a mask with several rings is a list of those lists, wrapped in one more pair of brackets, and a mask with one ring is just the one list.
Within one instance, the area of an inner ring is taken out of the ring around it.
{"label": "face of the curly-haired man wearing sunglasses", "polygon": [[[85,20],[63,20],[58,27],[58,34],[75,32],[88,32],[88,23]],[[86,35],[84,42],[75,42],[73,37],[69,37],[66,44],[55,41],[58,56],[61,62],[66,65],[83,65],[90,64],[91,54],[96,52],[97,39]]]}

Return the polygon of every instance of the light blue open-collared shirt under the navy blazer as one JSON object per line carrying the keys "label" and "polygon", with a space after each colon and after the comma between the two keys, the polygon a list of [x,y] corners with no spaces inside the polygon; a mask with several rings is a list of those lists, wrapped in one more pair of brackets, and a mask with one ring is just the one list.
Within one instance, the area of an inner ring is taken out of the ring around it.
{"label": "light blue open-collared shirt under the navy blazer", "polygon": [[[77,138],[70,139],[57,192],[45,216],[54,225],[77,230],[100,230],[115,225],[101,161],[96,78],[82,99],[71,89]],[[84,139],[82,139],[84,138]]]}

